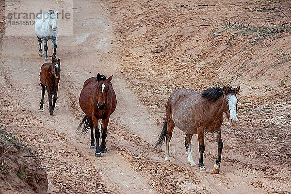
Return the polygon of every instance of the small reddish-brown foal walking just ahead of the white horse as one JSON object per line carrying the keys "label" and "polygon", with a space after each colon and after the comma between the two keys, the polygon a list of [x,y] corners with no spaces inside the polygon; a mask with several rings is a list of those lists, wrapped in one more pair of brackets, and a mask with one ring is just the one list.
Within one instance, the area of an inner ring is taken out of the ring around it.
{"label": "small reddish-brown foal walking just ahead of the white horse", "polygon": [[[60,59],[51,59],[51,63],[45,63],[40,69],[40,82],[41,82],[41,101],[40,110],[44,109],[44,96],[46,93],[46,87],[49,96],[49,115],[53,115],[54,108],[56,106],[56,101],[58,99],[58,87],[60,81]],[[53,96],[53,102],[52,102]]]}

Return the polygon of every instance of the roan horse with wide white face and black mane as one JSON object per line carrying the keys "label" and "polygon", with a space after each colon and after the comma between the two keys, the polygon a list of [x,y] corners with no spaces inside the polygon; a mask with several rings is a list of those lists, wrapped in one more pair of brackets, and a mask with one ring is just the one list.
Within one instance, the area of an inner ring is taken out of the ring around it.
{"label": "roan horse with wide white face and black mane", "polygon": [[200,171],[206,171],[203,163],[204,135],[212,133],[216,139],[218,155],[213,167],[215,174],[219,173],[223,143],[221,140],[221,125],[223,113],[230,125],[237,122],[237,98],[239,87],[223,86],[222,88],[209,88],[201,94],[190,89],[179,89],[168,99],[166,107],[166,119],[163,129],[155,147],[162,146],[166,139],[165,162],[169,160],[169,144],[175,126],[186,132],[185,146],[188,155],[188,163],[196,167],[191,154],[191,139],[193,134],[198,134]]}

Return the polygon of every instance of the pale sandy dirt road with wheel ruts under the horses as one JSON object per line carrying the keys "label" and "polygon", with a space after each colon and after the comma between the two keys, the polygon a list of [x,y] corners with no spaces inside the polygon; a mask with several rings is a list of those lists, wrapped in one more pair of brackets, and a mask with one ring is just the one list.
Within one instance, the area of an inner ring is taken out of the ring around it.
{"label": "pale sandy dirt road with wheel ruts under the horses", "polygon": [[[177,129],[170,146],[171,164],[153,148],[161,126],[154,121],[120,73],[113,23],[100,2],[75,2],[74,36],[58,37],[61,62],[59,99],[55,116],[39,110],[41,87],[37,38],[6,36],[2,45],[1,119],[32,146],[48,169],[48,193],[288,193],[290,168],[241,156],[223,139],[221,173],[211,174],[216,143],[207,136],[208,173],[187,164],[184,134]],[[113,43],[113,44],[112,44]],[[49,53],[52,53],[51,45]],[[108,153],[94,157],[89,134],[76,132],[81,119],[78,99],[83,81],[98,72],[113,76],[117,109],[108,128]],[[48,101],[45,102],[48,106]],[[14,120],[11,116],[14,116]],[[197,137],[193,157],[198,161]],[[162,147],[164,148],[164,147]],[[267,166],[267,167],[266,167]],[[268,170],[266,170],[268,169]]]}

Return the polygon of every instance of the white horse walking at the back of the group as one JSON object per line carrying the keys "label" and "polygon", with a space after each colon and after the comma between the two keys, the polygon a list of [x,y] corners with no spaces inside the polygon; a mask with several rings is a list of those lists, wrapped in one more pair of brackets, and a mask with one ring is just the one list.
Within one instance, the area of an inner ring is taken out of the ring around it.
{"label": "white horse walking at the back of the group", "polygon": [[53,43],[53,58],[56,58],[57,49],[57,34],[59,27],[57,23],[58,11],[49,10],[47,13],[40,14],[35,18],[34,31],[38,38],[39,44],[39,56],[42,57],[41,51],[41,39],[44,40],[44,54],[45,61],[49,60],[48,57],[48,40],[50,39]]}

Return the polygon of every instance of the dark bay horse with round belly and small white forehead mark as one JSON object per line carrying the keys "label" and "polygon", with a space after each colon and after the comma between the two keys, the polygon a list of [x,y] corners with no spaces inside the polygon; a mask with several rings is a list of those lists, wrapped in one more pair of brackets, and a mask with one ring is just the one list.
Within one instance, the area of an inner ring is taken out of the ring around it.
{"label": "dark bay horse with round belly and small white forehead mark", "polygon": [[[107,152],[106,137],[107,126],[110,115],[116,108],[116,95],[110,82],[113,75],[108,79],[104,75],[97,74],[96,77],[89,78],[84,82],[83,89],[80,94],[79,103],[82,111],[86,114],[78,126],[81,134],[91,129],[91,145],[90,149],[96,149],[95,156],[101,157],[101,152]],[[101,124],[101,145],[99,146],[100,131],[98,120],[102,119]],[[95,128],[95,139],[93,129]]]}

